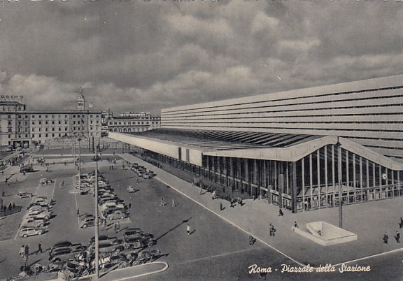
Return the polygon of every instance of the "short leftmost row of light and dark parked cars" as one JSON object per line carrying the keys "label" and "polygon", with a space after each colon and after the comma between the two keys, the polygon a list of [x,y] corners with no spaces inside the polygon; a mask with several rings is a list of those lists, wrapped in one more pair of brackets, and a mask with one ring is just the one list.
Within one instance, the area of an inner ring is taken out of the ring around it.
{"label": "short leftmost row of light and dark parked cars", "polygon": [[52,217],[52,204],[54,202],[45,196],[36,197],[27,208],[27,213],[22,217],[20,236],[28,237],[42,235],[48,231],[48,224]]}

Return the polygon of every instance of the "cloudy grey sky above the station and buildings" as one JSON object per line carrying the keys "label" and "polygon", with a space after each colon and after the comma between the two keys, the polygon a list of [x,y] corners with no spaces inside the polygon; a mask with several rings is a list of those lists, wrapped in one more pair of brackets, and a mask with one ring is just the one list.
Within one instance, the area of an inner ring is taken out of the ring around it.
{"label": "cloudy grey sky above the station and buildings", "polygon": [[0,0],[0,94],[115,115],[403,73],[399,0]]}

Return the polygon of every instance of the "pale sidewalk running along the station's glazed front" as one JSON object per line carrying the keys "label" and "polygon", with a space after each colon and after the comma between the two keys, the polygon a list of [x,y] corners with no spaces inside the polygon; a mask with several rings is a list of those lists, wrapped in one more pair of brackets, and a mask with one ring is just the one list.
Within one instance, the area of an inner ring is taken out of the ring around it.
{"label": "pale sidewalk running along the station's glazed front", "polygon": [[[227,222],[246,233],[251,233],[262,243],[277,252],[285,254],[299,264],[341,264],[374,254],[401,250],[401,244],[396,243],[393,235],[398,229],[398,222],[402,216],[403,198],[388,199],[386,201],[372,201],[355,205],[344,206],[344,229],[356,233],[358,240],[332,246],[321,246],[311,240],[303,238],[292,231],[296,221],[299,228],[304,228],[308,222],[325,221],[339,226],[338,208],[326,208],[311,212],[292,214],[284,210],[284,216],[278,217],[278,208],[269,205],[267,201],[253,199],[244,200],[243,206],[229,207],[228,201],[221,201],[225,210],[220,211],[220,200],[211,199],[210,193],[200,195],[199,187],[192,187],[189,182],[181,180],[146,161],[131,154],[118,154],[126,161],[136,162],[154,171],[157,180],[169,185],[177,192],[188,196],[204,208],[214,212]],[[269,224],[274,224],[276,236],[269,236]],[[388,244],[382,241],[383,233],[388,231]]]}

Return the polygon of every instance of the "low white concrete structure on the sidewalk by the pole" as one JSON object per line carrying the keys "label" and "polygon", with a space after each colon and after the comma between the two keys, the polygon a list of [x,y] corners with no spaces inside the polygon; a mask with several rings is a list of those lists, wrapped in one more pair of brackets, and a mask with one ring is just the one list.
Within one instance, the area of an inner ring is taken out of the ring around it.
{"label": "low white concrete structure on the sidewalk by the pole", "polygon": [[357,240],[357,234],[327,222],[309,222],[304,229],[295,228],[295,233],[323,246],[336,245]]}

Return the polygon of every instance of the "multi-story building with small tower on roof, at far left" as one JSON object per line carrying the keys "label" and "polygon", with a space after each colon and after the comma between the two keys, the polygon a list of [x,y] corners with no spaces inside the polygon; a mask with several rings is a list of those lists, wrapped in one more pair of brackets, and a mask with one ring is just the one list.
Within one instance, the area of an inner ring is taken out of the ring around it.
{"label": "multi-story building with small tower on roof, at far left", "polygon": [[82,90],[76,110],[27,110],[23,96],[1,96],[1,145],[29,146],[53,138],[101,136],[101,111],[85,108]]}

